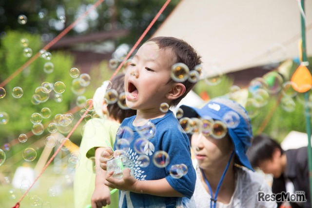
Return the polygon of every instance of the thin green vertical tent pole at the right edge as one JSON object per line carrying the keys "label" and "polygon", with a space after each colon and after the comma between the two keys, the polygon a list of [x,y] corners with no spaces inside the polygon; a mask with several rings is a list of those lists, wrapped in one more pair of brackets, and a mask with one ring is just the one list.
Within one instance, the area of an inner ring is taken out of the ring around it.
{"label": "thin green vertical tent pole at the right edge", "polygon": [[[302,10],[304,11],[304,0],[301,0]],[[301,14],[301,39],[302,39],[302,46],[301,46],[301,55],[302,55],[302,62],[307,62],[307,53],[306,53],[306,22],[303,17],[304,14]],[[310,181],[310,200],[311,200],[311,207],[312,207],[312,148],[311,148],[311,116],[309,114],[309,93],[308,91],[304,93],[305,99],[305,117],[306,117],[306,130],[308,135],[308,164],[309,164],[309,181]]]}

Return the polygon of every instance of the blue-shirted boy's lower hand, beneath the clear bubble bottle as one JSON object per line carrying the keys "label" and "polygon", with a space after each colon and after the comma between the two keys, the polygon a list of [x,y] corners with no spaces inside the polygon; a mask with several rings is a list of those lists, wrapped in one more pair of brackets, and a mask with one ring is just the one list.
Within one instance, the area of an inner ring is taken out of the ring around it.
{"label": "blue-shirted boy's lower hand, beneath the clear bubble bottle", "polygon": [[111,188],[118,188],[119,190],[128,190],[135,192],[138,180],[130,174],[130,169],[123,170],[123,177],[117,179],[113,177],[114,171],[107,172],[105,185]]}

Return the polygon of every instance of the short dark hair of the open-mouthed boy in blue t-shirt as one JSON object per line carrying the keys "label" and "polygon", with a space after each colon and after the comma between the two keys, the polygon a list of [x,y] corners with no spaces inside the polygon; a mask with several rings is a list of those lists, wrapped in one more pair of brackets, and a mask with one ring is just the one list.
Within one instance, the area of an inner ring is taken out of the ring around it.
{"label": "short dark hair of the open-mouthed boy in blue t-shirt", "polygon": [[[184,63],[189,67],[190,71],[192,71],[195,70],[194,68],[196,65],[202,63],[200,60],[201,57],[197,55],[195,49],[189,43],[183,40],[173,37],[156,37],[148,40],[148,42],[150,41],[155,42],[160,49],[170,48],[174,55],[176,55],[176,60],[173,62],[173,64],[178,62]],[[173,82],[173,80],[171,79],[170,82]],[[195,85],[195,83],[189,82],[188,80],[182,84],[184,84],[186,88],[185,93],[171,102],[170,105],[173,107],[176,106]]]}

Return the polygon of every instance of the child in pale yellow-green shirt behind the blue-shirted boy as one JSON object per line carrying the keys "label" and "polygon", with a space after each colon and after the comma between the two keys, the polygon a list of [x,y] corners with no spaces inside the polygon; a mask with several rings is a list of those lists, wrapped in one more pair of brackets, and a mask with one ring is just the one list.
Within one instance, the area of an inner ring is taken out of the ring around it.
{"label": "child in pale yellow-green shirt behind the blue-shirted boy", "polygon": [[[115,89],[118,94],[124,92],[124,74],[118,74],[112,79],[112,89]],[[98,112],[98,114],[107,114],[105,120],[93,118],[86,123],[84,128],[79,147],[80,165],[76,167],[74,179],[75,208],[86,208],[89,204],[92,208],[106,205],[111,205],[108,208],[118,207],[118,193],[110,195],[109,187],[104,185],[105,172],[98,171],[96,168],[94,173],[93,167],[98,166],[99,154],[103,149],[114,145],[120,123],[124,118],[135,115],[136,111],[123,110],[117,102],[107,107],[103,106],[103,108],[103,112]],[[92,163],[92,158],[95,164]]]}

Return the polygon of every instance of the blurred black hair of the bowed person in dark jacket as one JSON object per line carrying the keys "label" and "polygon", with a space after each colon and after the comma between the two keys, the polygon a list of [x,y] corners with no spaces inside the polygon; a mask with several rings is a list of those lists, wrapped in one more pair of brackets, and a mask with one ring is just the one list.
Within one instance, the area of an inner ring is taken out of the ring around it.
{"label": "blurred black hair of the bowed person in dark jacket", "polygon": [[254,137],[252,146],[247,151],[247,157],[253,167],[257,167],[265,160],[272,160],[276,149],[284,154],[282,147],[266,134],[260,134]]}

